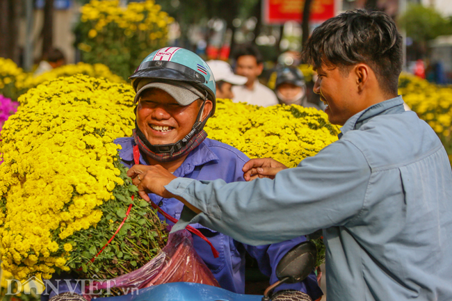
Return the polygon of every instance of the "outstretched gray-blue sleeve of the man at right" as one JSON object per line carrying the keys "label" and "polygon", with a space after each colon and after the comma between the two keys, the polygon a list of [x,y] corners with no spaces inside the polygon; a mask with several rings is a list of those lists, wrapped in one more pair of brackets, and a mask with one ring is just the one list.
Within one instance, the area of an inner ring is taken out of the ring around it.
{"label": "outstretched gray-blue sleeve of the man at right", "polygon": [[344,225],[362,211],[370,176],[364,154],[339,140],[273,180],[177,178],[166,189],[202,211],[195,215],[185,206],[173,230],[200,222],[242,243],[264,245]]}

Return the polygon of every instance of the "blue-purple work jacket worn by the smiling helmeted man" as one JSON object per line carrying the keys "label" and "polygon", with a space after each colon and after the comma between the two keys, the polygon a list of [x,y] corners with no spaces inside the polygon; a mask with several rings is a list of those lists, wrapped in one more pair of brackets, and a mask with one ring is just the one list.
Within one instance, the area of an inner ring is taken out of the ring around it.
{"label": "blue-purple work jacket worn by the smiling helmeted man", "polygon": [[[134,165],[134,139],[118,138],[115,140],[115,143],[122,147],[120,149],[122,163],[127,168],[130,168]],[[176,177],[185,177],[200,181],[214,179],[222,179],[226,183],[244,181],[242,168],[243,164],[248,160],[249,158],[238,149],[207,138],[188,154],[184,163],[173,174]],[[145,158],[141,155],[140,164],[148,165]],[[180,218],[184,204],[179,200],[174,198],[164,199],[153,193],[150,193],[149,197],[152,202],[160,206],[163,211],[166,211],[173,218]],[[269,212],[268,214],[272,213]],[[165,220],[160,213],[159,217],[161,220]],[[168,225],[172,225],[172,222],[167,221],[167,223]],[[234,293],[244,293],[245,291],[245,252],[248,252],[248,254],[257,259],[259,269],[264,275],[270,277],[270,282],[273,284],[277,281],[275,270],[282,256],[293,246],[302,241],[306,241],[305,236],[298,236],[282,243],[256,247],[239,243],[230,236],[213,231],[200,224],[194,224],[192,227],[199,229],[202,231],[202,234],[209,238],[209,241],[216,247],[220,256],[216,259],[213,258],[210,246],[199,236],[192,234],[193,245],[197,254],[200,255],[207,267],[213,272],[213,276],[218,280],[220,286]],[[304,282],[298,284],[282,284],[282,286],[278,287],[278,290],[289,288],[307,293],[313,300],[320,298],[323,294],[318,287],[314,272]]]}

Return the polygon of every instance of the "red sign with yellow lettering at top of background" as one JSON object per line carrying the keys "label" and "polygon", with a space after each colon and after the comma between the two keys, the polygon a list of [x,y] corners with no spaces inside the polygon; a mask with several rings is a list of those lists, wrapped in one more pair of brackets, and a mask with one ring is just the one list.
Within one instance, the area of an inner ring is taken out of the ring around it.
{"label": "red sign with yellow lettering at top of background", "polygon": [[[302,21],[305,0],[263,0],[264,20],[267,24]],[[309,20],[323,22],[334,17],[334,0],[312,0]]]}

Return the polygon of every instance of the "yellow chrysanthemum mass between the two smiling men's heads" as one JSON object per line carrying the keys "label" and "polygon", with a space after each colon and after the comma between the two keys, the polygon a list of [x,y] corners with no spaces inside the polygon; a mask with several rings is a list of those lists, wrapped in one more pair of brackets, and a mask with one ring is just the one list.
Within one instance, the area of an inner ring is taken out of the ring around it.
{"label": "yellow chrysanthemum mass between the two smiling men's heads", "polygon": [[205,127],[209,138],[232,145],[250,158],[271,157],[289,168],[337,140],[339,127],[328,115],[302,106],[236,104],[217,99]]}

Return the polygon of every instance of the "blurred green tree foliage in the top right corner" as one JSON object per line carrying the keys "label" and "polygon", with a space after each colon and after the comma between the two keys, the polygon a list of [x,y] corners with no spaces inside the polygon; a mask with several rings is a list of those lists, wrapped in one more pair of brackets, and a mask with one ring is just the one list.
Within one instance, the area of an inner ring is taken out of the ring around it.
{"label": "blurred green tree foliage in the top right corner", "polygon": [[414,42],[425,43],[439,35],[452,34],[450,19],[442,17],[435,9],[421,4],[408,6],[399,23]]}

